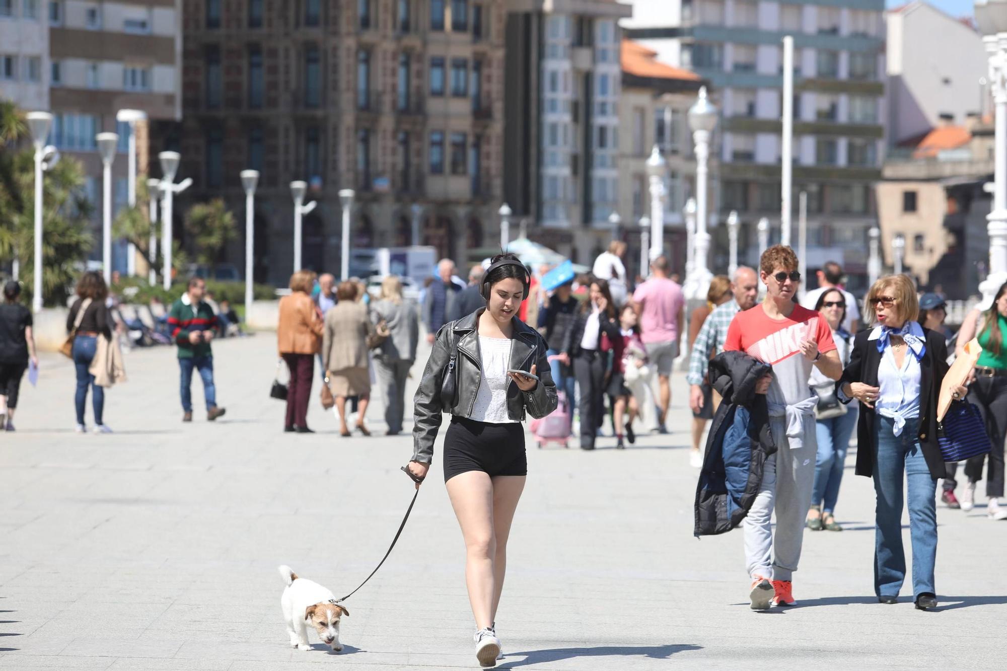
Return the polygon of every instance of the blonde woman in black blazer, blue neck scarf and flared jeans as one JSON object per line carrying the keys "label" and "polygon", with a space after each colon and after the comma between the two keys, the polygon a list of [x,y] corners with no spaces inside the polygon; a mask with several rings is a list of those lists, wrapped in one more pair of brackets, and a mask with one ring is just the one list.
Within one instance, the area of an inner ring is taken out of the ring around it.
{"label": "blonde woman in black blazer, blue neck scarf and flared jeans", "polygon": [[[902,548],[903,479],[912,539],[912,593],[916,608],[938,605],[937,485],[945,458],[938,439],[938,398],[948,372],[942,333],[915,320],[919,305],[905,275],[882,277],[867,294],[864,313],[873,328],[857,333],[837,390],[843,402],[860,401],[858,476],[874,480],[874,592],[895,603],[905,580]],[[959,387],[957,398],[967,390]]]}

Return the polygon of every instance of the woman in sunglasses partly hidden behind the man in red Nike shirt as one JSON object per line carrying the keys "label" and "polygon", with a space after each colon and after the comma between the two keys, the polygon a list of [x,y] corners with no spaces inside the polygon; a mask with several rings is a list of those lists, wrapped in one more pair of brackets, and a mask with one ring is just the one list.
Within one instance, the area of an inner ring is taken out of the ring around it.
{"label": "woman in sunglasses partly hidden behind the man in red Nike shirt", "polygon": [[[819,312],[832,329],[839,360],[845,366],[850,361],[853,337],[843,328],[846,319],[846,296],[839,289],[822,292],[815,303]],[[836,396],[836,383],[819,370],[813,369],[809,380],[818,395],[815,408],[815,434],[818,437],[818,455],[815,459],[815,485],[812,489],[812,506],[808,511],[808,528],[812,531],[842,531],[833,514],[839,498],[839,485],[843,481],[846,450],[850,436],[857,425],[856,405],[844,405]]]}

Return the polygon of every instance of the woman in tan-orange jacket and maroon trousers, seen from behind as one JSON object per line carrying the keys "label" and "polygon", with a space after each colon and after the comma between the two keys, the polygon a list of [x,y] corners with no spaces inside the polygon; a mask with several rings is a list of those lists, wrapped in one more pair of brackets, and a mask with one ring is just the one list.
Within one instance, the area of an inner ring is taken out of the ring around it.
{"label": "woman in tan-orange jacket and maroon trousers, seen from behind", "polygon": [[308,401],[314,377],[314,356],[321,346],[324,328],[321,311],[311,300],[315,274],[298,270],[290,276],[290,295],[280,299],[276,345],[290,371],[287,385],[287,412],[283,430],[314,433],[308,428]]}

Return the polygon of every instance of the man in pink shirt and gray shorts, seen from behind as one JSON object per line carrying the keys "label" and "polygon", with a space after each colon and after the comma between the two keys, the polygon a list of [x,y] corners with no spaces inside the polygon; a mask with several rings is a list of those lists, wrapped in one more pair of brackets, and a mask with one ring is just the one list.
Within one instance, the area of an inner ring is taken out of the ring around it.
{"label": "man in pink shirt and gray shorts, seen from behind", "polygon": [[646,356],[658,368],[661,417],[658,429],[667,433],[665,418],[672,403],[669,379],[672,365],[679,356],[679,336],[685,319],[685,295],[678,282],[668,278],[668,258],[659,256],[651,262],[651,279],[632,294],[633,308],[639,315],[640,338],[646,346]]}

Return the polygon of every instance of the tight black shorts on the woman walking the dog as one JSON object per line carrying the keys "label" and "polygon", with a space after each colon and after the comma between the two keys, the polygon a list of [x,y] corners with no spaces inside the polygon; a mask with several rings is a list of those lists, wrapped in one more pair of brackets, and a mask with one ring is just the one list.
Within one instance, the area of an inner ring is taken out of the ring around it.
{"label": "tight black shorts on the woman walking the dog", "polygon": [[468,471],[481,471],[490,478],[527,476],[525,427],[521,422],[489,424],[452,417],[444,434],[444,482]]}

